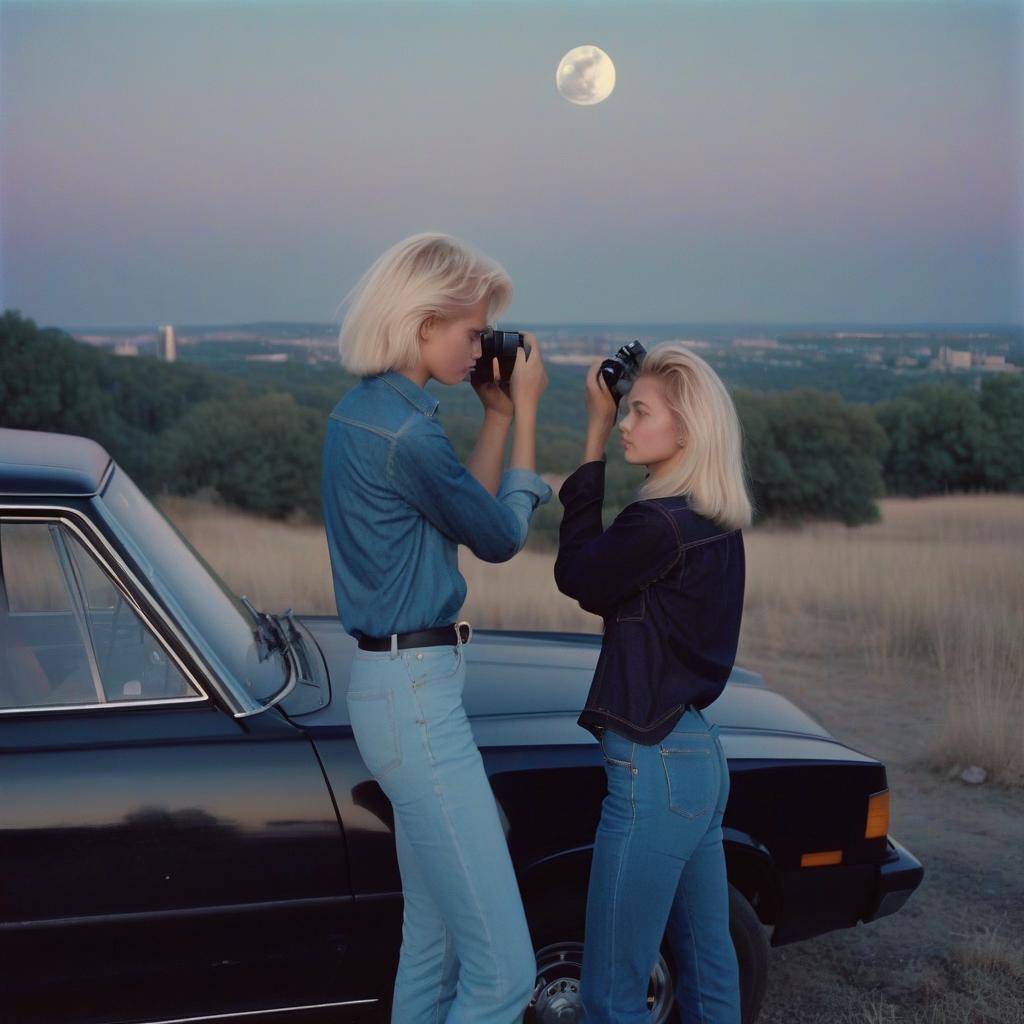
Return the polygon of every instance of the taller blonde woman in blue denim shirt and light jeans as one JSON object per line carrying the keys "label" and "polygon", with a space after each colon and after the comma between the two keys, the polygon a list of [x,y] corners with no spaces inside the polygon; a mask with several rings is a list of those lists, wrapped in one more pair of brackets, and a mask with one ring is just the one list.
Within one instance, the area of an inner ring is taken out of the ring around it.
{"label": "taller blonde woman in blue denim shirt and light jeans", "polygon": [[515,872],[462,706],[471,631],[455,620],[466,597],[457,546],[510,559],[551,498],[536,472],[547,386],[537,339],[526,336],[528,358],[517,353],[510,394],[476,386],[483,424],[465,466],[425,390],[466,378],[510,296],[493,260],[417,234],[367,271],[339,336],[360,379],[328,421],[324,521],[338,615],[358,640],[352,732],[394,810],[404,899],[394,1024],[515,1024],[534,987]]}

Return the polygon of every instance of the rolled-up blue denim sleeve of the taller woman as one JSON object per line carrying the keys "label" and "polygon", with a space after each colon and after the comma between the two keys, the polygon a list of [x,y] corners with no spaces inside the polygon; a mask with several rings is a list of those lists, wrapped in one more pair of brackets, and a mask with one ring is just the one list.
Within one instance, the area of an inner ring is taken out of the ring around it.
{"label": "rolled-up blue denim sleeve of the taller woman", "polygon": [[417,511],[487,562],[508,561],[526,543],[534,510],[551,487],[528,469],[507,469],[492,495],[459,462],[440,424],[423,420],[391,445],[388,479]]}

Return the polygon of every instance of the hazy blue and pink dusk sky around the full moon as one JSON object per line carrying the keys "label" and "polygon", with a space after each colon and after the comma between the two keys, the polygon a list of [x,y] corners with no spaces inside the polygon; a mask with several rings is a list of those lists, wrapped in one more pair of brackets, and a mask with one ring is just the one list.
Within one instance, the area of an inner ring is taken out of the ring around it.
{"label": "hazy blue and pink dusk sky around the full moon", "polygon": [[337,322],[422,230],[506,326],[1024,324],[1024,0],[0,0],[3,307]]}

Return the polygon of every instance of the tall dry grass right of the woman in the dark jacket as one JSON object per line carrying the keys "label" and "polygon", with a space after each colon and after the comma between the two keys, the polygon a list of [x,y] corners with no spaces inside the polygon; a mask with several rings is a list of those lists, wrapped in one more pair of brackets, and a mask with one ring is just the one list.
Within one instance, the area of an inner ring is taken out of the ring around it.
{"label": "tall dry grass right of the woman in the dark jacket", "polygon": [[744,629],[854,651],[880,684],[926,670],[945,703],[931,761],[1024,785],[1024,499],[889,499],[882,512],[855,529],[752,531]]}

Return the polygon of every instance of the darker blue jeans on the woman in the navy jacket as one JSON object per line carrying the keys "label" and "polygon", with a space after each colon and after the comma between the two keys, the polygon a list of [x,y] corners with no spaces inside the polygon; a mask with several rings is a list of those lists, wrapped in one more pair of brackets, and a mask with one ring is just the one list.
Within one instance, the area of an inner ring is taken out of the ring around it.
{"label": "darker blue jeans on the woman in the navy jacket", "polygon": [[739,1024],[722,815],[729,769],[718,726],[687,709],[660,743],[601,738],[608,793],[594,845],[581,994],[587,1024],[647,1024],[667,937],[686,1024]]}

